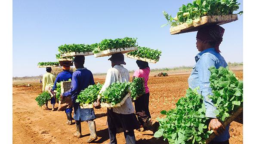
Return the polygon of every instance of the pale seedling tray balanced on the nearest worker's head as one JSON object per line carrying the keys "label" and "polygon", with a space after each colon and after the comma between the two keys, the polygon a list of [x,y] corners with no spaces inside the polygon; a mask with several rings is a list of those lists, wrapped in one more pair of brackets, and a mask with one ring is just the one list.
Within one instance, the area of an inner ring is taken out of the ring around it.
{"label": "pale seedling tray balanced on the nearest worker's head", "polygon": [[199,21],[193,20],[192,24],[184,23],[182,25],[170,28],[170,33],[182,34],[192,31],[198,31],[199,28],[202,28],[207,25],[223,25],[231,21],[236,21],[237,19],[237,14],[203,16],[200,18]]}

